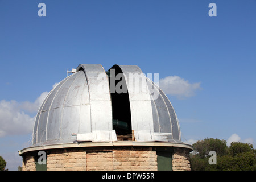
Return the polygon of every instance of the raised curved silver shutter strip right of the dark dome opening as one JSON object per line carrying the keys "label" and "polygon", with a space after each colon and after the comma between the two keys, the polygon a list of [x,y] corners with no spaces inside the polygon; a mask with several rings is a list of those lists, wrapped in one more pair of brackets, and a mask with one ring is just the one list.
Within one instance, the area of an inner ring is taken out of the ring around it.
{"label": "raised curved silver shutter strip right of the dark dome opening", "polygon": [[137,65],[114,65],[125,75],[130,99],[131,127],[137,141],[154,140],[154,123],[146,77]]}

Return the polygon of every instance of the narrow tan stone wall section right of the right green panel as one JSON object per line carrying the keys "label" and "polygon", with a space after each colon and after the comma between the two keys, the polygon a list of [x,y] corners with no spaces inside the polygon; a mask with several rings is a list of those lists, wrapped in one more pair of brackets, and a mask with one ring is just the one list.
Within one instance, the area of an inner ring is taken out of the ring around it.
{"label": "narrow tan stone wall section right of the right green panel", "polygon": [[172,170],[190,171],[189,151],[175,149],[172,155]]}

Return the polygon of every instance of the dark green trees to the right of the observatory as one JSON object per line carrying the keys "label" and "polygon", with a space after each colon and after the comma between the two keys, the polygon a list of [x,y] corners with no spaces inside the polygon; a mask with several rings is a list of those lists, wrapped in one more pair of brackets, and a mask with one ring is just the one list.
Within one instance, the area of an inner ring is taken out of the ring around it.
{"label": "dark green trees to the right of the observatory", "polygon": [[[232,142],[226,146],[225,140],[206,138],[193,144],[191,153],[191,170],[194,171],[255,171],[256,150],[252,144]],[[209,151],[216,151],[217,164],[210,165]]]}

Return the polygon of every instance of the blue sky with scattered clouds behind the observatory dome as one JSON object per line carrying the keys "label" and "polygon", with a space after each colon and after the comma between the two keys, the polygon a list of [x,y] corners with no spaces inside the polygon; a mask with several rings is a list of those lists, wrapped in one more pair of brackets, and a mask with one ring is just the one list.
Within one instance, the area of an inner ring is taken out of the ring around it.
{"label": "blue sky with scattered clouds behind the observatory dome", "polygon": [[[38,16],[40,2],[46,17]],[[208,15],[212,2],[215,17]],[[255,148],[255,8],[255,0],[0,0],[6,168],[22,165],[18,150],[29,146],[40,102],[79,64],[135,64],[159,73],[183,142],[208,137]]]}

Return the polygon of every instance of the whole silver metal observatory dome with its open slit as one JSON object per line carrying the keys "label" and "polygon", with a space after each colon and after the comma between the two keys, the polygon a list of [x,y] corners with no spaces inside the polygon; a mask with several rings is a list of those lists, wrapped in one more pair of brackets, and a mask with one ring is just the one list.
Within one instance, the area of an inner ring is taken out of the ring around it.
{"label": "whole silver metal observatory dome with its open slit", "polygon": [[[112,70],[114,76],[110,74]],[[127,93],[112,92],[118,73],[124,76],[119,80],[126,84]],[[75,73],[51,90],[40,106],[32,145],[113,142],[122,127],[132,130],[138,142],[183,143],[171,102],[141,73],[137,65],[114,65],[106,72],[101,65],[80,64]],[[134,92],[138,87],[134,78],[146,81],[146,90]],[[150,92],[152,89],[154,93]]]}

